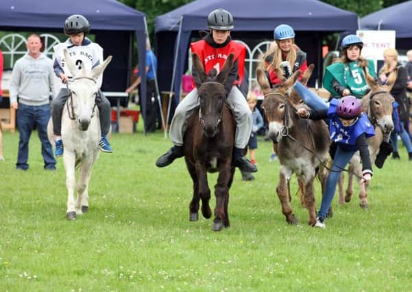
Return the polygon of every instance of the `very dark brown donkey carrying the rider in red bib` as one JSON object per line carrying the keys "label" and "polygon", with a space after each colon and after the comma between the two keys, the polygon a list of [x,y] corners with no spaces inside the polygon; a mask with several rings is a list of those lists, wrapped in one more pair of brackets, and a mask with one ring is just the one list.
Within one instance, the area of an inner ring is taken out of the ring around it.
{"label": "very dark brown donkey carrying the rider in red bib", "polygon": [[184,136],[184,155],[187,169],[193,180],[193,199],[189,205],[189,220],[199,219],[199,200],[202,200],[202,214],[210,218],[210,189],[207,172],[219,172],[215,185],[216,208],[213,230],[229,227],[229,189],[232,185],[234,166],[232,151],[236,122],[232,111],[226,105],[226,92],[223,84],[233,65],[234,55],[228,59],[218,75],[210,70],[206,75],[202,62],[192,55],[193,66],[202,85],[197,88],[200,107],[187,121]]}

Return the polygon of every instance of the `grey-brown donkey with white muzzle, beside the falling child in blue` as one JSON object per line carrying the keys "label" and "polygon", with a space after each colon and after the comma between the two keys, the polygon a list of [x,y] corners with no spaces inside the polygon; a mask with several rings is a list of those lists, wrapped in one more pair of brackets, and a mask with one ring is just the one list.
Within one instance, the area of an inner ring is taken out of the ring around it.
{"label": "grey-brown donkey with white muzzle, beside the falling child in blue", "polygon": [[289,224],[298,224],[290,204],[289,180],[296,173],[304,185],[304,203],[308,209],[308,223],[316,223],[315,195],[313,181],[316,168],[322,176],[322,185],[326,180],[324,165],[328,163],[330,144],[328,127],[322,120],[306,120],[298,116],[295,107],[289,101],[288,95],[300,75],[296,71],[292,77],[271,90],[262,70],[257,71],[258,83],[265,99],[261,107],[265,111],[269,123],[269,138],[278,144],[280,161],[279,183],[276,187],[282,213]]}

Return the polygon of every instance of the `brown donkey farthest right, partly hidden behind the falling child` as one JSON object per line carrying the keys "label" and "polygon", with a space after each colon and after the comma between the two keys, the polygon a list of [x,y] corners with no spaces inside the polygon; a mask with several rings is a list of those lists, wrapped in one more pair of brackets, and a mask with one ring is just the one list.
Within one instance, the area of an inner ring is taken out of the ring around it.
{"label": "brown donkey farthest right, partly hidden behind the falling child", "polygon": [[[362,107],[375,129],[375,135],[367,139],[369,155],[372,163],[374,163],[376,155],[378,155],[380,144],[383,142],[384,137],[389,136],[393,129],[392,103],[394,99],[391,96],[390,91],[397,76],[398,70],[393,70],[388,77],[387,83],[385,85],[381,85],[369,74],[366,75],[367,83],[372,90],[362,98]],[[352,199],[353,173],[358,176],[359,204],[363,209],[366,209],[368,207],[367,189],[369,187],[369,181],[361,183],[362,165],[359,152],[356,152],[356,155],[350,159],[346,196],[343,195],[343,175],[339,179],[339,204],[350,202]]]}

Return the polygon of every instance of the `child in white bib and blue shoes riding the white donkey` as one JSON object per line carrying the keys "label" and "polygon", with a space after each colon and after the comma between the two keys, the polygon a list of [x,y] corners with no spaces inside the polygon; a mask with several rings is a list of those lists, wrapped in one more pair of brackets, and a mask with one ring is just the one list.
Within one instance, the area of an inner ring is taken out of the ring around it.
{"label": "child in white bib and blue shoes riding the white donkey", "polygon": [[[51,116],[53,118],[53,132],[56,135],[56,150],[55,156],[61,157],[64,152],[61,128],[62,128],[62,111],[67,98],[69,97],[69,91],[66,88],[66,83],[71,81],[72,73],[66,67],[64,61],[64,49],[66,49],[74,63],[81,69],[83,66],[87,69],[92,69],[95,66],[103,62],[103,49],[86,38],[86,34],[90,30],[90,23],[86,17],[74,14],[66,18],[64,21],[64,34],[69,36],[66,42],[57,44],[53,47],[53,68],[56,76],[61,79],[58,82],[60,85],[60,92],[51,103]],[[101,86],[102,77],[97,79],[99,88]],[[104,152],[112,152],[112,148],[106,138],[110,129],[111,122],[111,110],[110,102],[99,90],[99,94],[96,96],[96,105],[99,109],[101,139],[99,142],[99,148]]]}

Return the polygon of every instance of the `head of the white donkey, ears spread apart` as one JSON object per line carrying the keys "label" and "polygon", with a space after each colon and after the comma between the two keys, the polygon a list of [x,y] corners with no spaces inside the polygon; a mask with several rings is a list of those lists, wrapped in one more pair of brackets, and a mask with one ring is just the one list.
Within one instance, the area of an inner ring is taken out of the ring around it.
{"label": "head of the white donkey, ears spread apart", "polygon": [[99,94],[99,86],[96,80],[103,74],[104,69],[112,60],[112,56],[108,56],[102,64],[92,70],[87,70],[84,66],[79,70],[66,50],[64,50],[64,59],[67,68],[73,75],[73,81],[69,85],[70,97],[67,101],[69,108],[71,107],[69,115],[72,119],[77,120],[77,125],[81,131],[87,131],[95,111],[95,99]]}

